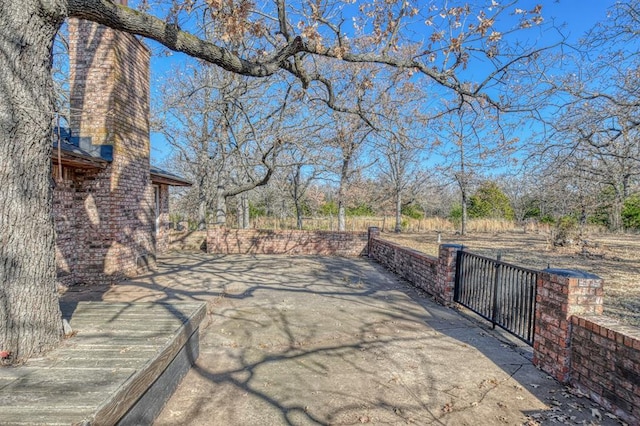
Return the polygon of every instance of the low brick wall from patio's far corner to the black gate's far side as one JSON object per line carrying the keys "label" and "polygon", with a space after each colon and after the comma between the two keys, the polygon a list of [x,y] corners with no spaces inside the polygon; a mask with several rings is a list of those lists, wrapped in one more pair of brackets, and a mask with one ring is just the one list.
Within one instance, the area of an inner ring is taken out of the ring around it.
{"label": "low brick wall from patio's far corner to the black gate's far side", "polygon": [[440,303],[453,303],[456,254],[462,246],[443,244],[438,257],[402,247],[379,238],[380,231],[369,231],[369,257],[434,296]]}

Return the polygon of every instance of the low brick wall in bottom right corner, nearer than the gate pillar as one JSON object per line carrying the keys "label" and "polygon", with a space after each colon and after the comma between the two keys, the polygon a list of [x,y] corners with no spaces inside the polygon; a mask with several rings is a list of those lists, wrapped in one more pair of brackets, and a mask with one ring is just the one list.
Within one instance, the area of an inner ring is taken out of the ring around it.
{"label": "low brick wall in bottom right corner, nearer than the gate pillar", "polygon": [[571,326],[571,384],[640,424],[640,329],[604,316],[573,316]]}

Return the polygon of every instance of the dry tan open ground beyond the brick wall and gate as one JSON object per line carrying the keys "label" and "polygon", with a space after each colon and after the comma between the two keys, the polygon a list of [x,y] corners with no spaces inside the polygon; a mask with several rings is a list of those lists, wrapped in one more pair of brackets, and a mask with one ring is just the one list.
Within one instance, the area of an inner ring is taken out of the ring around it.
{"label": "dry tan open ground beyond the brick wall and gate", "polygon": [[[430,255],[438,233],[393,234],[382,238]],[[565,268],[596,274],[605,281],[605,315],[640,326],[640,235],[593,234],[571,247],[554,247],[549,234],[502,232],[465,236],[442,233],[441,243],[462,244],[470,252],[532,269]]]}

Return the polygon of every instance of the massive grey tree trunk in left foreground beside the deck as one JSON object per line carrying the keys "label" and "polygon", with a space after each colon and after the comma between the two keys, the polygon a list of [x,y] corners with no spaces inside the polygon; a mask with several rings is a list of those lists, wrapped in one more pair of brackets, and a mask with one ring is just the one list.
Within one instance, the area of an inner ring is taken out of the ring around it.
{"label": "massive grey tree trunk in left foreground beside the deck", "polygon": [[0,0],[0,351],[62,338],[52,211],[51,47],[63,2]]}

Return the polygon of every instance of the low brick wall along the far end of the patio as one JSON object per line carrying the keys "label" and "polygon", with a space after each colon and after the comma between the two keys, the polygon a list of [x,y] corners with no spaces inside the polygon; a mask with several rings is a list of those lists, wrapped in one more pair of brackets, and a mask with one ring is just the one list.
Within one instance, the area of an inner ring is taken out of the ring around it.
{"label": "low brick wall along the far end of the patio", "polygon": [[367,233],[210,228],[207,230],[207,252],[364,256],[367,254]]}

